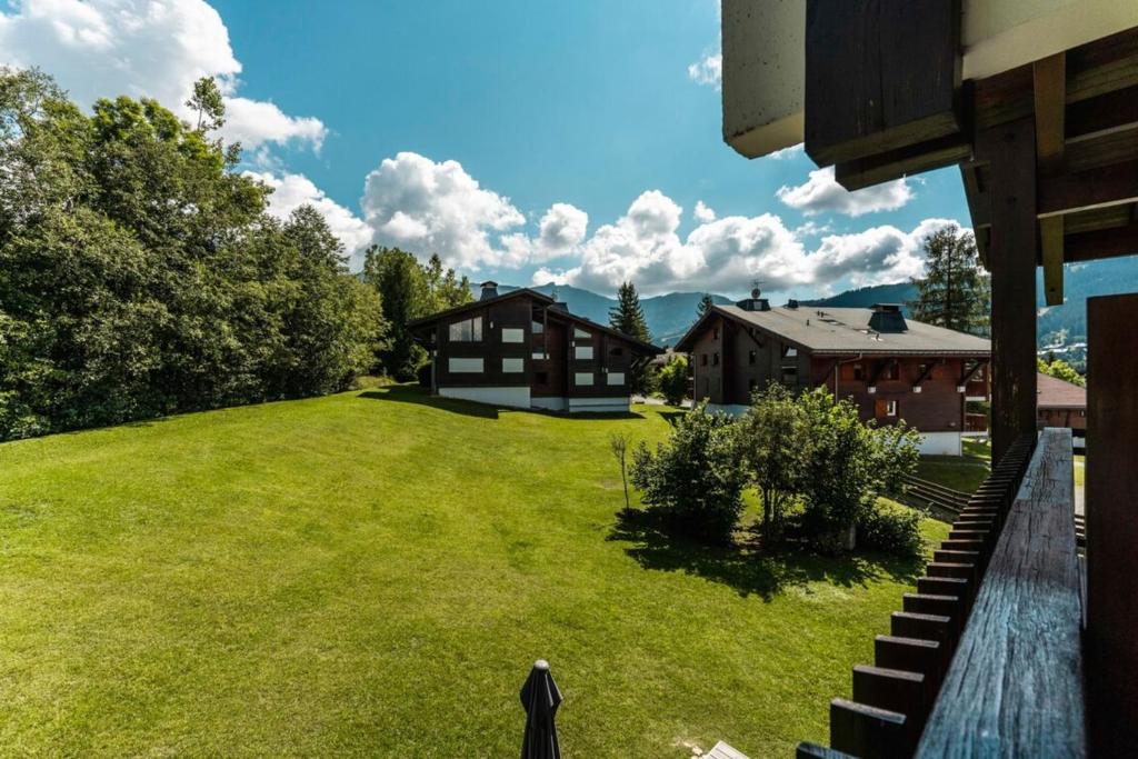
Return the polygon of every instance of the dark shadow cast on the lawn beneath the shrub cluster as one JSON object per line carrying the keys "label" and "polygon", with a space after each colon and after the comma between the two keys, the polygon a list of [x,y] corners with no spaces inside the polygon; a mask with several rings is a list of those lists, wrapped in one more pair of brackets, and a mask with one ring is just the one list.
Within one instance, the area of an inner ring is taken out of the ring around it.
{"label": "dark shadow cast on the lawn beneath the shrub cluster", "polygon": [[625,553],[644,569],[679,571],[720,583],[742,596],[758,595],[772,601],[790,587],[824,581],[839,587],[866,587],[891,580],[915,584],[922,569],[918,558],[900,559],[875,552],[827,556],[808,548],[786,545],[764,551],[754,534],[732,545],[709,546],[668,531],[652,510],[621,510],[609,541],[629,543]]}

